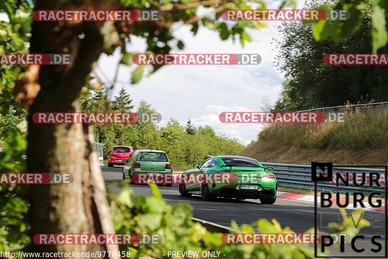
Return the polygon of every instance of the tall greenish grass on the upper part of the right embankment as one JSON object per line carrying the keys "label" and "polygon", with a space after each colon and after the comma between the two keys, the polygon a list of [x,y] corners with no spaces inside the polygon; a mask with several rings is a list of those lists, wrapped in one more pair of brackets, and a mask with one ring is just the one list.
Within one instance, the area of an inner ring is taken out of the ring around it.
{"label": "tall greenish grass on the upper part of the right embankment", "polygon": [[388,106],[343,108],[344,122],[273,124],[259,139],[308,148],[369,149],[388,146]]}

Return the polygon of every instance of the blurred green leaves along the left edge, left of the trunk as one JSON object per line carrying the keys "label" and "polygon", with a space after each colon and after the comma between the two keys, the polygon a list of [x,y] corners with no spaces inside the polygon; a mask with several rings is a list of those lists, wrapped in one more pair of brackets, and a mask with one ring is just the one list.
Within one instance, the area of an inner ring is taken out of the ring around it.
{"label": "blurred green leaves along the left edge, left of the trunk", "polygon": [[[18,12],[16,12],[18,10]],[[16,6],[13,0],[0,1],[0,14],[9,21],[0,21],[0,54],[25,53],[29,42],[31,2]],[[0,172],[25,172],[26,154],[25,108],[15,101],[15,81],[25,67],[0,65]],[[0,251],[18,251],[30,243],[27,220],[27,186],[0,184]]]}

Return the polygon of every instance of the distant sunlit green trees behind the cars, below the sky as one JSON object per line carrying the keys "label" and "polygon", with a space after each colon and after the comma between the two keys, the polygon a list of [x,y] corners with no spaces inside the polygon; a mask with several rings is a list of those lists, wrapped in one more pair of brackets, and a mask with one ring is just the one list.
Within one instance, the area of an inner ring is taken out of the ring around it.
{"label": "distant sunlit green trees behind the cars, below the sky", "polygon": [[[126,99],[126,108],[120,108],[116,103]],[[124,89],[111,101],[106,89],[100,92],[91,91],[81,103],[86,112],[130,112],[132,100]],[[150,104],[142,100],[137,113],[155,113]],[[134,149],[160,149],[167,152],[174,166],[191,167],[194,162],[202,162],[208,155],[234,155],[244,146],[237,139],[217,136],[210,126],[195,127],[189,120],[182,127],[175,119],[170,119],[166,127],[159,129],[155,124],[95,124],[94,133],[97,142],[105,144],[104,157],[113,146],[126,145]]]}

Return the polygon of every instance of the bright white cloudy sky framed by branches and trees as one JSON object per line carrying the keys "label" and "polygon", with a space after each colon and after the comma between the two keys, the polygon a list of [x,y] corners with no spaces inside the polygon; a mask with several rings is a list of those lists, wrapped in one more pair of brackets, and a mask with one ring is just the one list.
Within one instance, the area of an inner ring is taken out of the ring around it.
{"label": "bright white cloudy sky framed by branches and trees", "polygon": [[[276,9],[278,2],[268,9]],[[302,1],[298,1],[302,7]],[[294,21],[290,21],[294,22]],[[197,34],[191,32],[191,25],[178,24],[174,36],[185,43],[183,50],[172,53],[257,53],[262,60],[259,65],[164,65],[137,84],[130,84],[130,71],[134,66],[120,65],[118,80],[111,91],[116,96],[124,87],[137,108],[145,99],[162,115],[159,127],[165,127],[170,118],[177,119],[182,126],[191,119],[195,127],[211,126],[217,134],[237,138],[243,145],[257,140],[265,126],[258,123],[222,123],[222,112],[262,112],[265,103],[275,104],[281,92],[284,75],[275,66],[276,39],[280,39],[277,26],[280,21],[267,21],[268,28],[249,31],[252,42],[242,47],[239,40],[231,38],[222,41],[218,32],[199,27]],[[145,40],[131,37],[127,51],[144,53]],[[111,56],[103,54],[95,69],[96,75],[108,85],[114,78],[120,51]]]}

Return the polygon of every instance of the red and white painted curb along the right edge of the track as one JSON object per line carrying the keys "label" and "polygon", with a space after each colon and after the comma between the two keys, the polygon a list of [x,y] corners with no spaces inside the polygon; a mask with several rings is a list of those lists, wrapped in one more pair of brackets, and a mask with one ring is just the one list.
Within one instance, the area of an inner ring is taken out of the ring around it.
{"label": "red and white painted curb along the right edge of the track", "polygon": [[[297,200],[297,201],[304,201],[304,202],[314,203],[314,195],[277,192],[277,197],[281,198],[281,199],[287,199],[287,200]],[[332,201],[332,204],[333,204],[332,206],[338,207],[335,198],[332,198],[331,201]],[[318,202],[318,204],[321,203],[320,196],[317,197],[317,202]],[[382,199],[382,202],[384,202],[384,199]],[[340,203],[344,204],[345,200],[344,199],[340,199]],[[380,208],[373,208],[371,205],[369,205],[368,202],[363,202],[363,203],[365,205],[365,210],[385,213],[385,205],[381,206]],[[354,209],[353,208],[353,201],[352,200],[349,201],[349,205],[346,208]]]}

